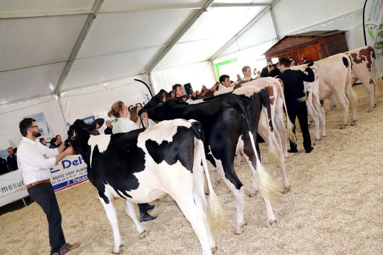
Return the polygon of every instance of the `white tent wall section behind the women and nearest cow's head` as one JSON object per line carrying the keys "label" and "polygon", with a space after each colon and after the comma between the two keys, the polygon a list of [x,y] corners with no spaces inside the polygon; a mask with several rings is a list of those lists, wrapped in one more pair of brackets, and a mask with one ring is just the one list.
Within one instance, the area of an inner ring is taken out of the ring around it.
{"label": "white tent wall section behind the women and nearest cow's head", "polygon": [[140,79],[149,84],[145,75],[63,93],[61,101],[67,120],[73,123],[76,119],[89,116],[98,118],[100,113],[108,112],[111,105],[118,100],[123,101],[128,107],[136,103],[143,104],[143,94],[134,79]]}

